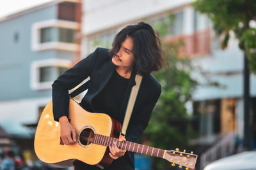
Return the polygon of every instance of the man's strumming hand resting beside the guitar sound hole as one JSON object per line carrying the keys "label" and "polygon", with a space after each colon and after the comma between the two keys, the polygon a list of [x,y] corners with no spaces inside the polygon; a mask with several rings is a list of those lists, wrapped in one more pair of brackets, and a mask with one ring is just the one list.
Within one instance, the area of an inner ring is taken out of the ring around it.
{"label": "man's strumming hand resting beside the guitar sound hole", "polygon": [[64,145],[76,143],[76,129],[70,124],[66,116],[59,118],[60,138]]}

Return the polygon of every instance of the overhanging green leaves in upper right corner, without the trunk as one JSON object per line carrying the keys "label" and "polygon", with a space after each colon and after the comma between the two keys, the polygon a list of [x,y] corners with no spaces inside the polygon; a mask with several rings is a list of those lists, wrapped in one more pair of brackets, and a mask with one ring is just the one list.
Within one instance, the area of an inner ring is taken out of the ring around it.
{"label": "overhanging green leaves in upper right corner, without the trunk", "polygon": [[196,0],[193,3],[196,10],[211,18],[217,34],[224,35],[222,48],[228,45],[230,31],[239,39],[239,48],[246,53],[249,67],[256,74],[256,43],[255,29],[250,27],[250,21],[256,21],[255,0]]}

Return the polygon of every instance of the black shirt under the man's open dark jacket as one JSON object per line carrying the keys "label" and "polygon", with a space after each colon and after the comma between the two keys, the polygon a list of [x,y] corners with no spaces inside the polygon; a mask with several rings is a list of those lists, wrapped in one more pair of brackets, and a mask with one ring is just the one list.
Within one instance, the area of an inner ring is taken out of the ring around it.
{"label": "black shirt under the man's open dark jacket", "polygon": [[125,91],[128,87],[129,79],[120,76],[116,71],[108,81],[107,85],[95,97],[95,105],[93,108],[97,113],[106,113],[111,118],[115,118],[119,122],[122,122],[120,117],[120,108],[124,99]]}

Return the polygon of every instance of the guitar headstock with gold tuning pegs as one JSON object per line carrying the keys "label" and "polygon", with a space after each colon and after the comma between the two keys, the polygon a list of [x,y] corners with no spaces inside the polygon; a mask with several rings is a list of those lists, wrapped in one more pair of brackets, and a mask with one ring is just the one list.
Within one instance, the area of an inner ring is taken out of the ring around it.
{"label": "guitar headstock with gold tuning pegs", "polygon": [[197,155],[191,153],[180,152],[179,149],[176,150],[166,150],[163,159],[168,160],[169,162],[173,162],[172,166],[175,164],[179,164],[180,168],[182,166],[187,167],[186,170],[189,168],[195,168]]}

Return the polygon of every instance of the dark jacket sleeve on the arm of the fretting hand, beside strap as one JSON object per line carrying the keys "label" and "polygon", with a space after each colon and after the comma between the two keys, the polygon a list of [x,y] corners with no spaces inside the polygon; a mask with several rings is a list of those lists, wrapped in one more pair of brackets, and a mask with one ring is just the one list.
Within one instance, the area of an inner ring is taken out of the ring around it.
{"label": "dark jacket sleeve on the arm of the fretting hand, beside strap", "polygon": [[135,115],[138,114],[138,116],[131,118],[132,122],[131,124],[129,124],[129,127],[127,128],[127,133],[125,136],[127,141],[138,141],[141,134],[148,125],[148,122],[152,115],[152,111],[157,103],[157,100],[159,99],[160,94],[161,87],[157,89],[156,92],[152,94],[152,96],[149,96],[147,101],[145,101],[145,103],[143,103],[142,106],[140,106],[140,110],[138,110],[138,113],[135,113]]}

